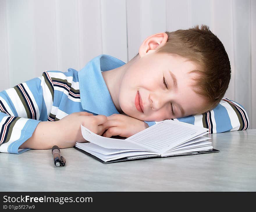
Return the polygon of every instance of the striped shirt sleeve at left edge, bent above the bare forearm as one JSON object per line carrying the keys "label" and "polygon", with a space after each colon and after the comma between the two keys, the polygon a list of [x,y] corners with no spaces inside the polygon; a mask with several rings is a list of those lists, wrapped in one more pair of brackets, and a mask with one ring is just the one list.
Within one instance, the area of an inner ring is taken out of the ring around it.
{"label": "striped shirt sleeve at left edge, bent above the bare forearm", "polygon": [[54,99],[47,72],[0,92],[0,152],[20,154],[40,121],[47,121]]}

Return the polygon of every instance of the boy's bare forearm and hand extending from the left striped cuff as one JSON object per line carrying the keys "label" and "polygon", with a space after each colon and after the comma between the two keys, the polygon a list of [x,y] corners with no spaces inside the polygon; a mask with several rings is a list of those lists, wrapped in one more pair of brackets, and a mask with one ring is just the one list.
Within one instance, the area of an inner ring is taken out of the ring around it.
{"label": "boy's bare forearm and hand extending from the left striped cuff", "polygon": [[94,133],[101,135],[107,117],[93,116],[87,112],[77,112],[65,116],[59,121],[41,121],[32,136],[19,148],[51,149],[53,145],[59,148],[73,147],[76,142],[86,142],[81,133],[81,125]]}

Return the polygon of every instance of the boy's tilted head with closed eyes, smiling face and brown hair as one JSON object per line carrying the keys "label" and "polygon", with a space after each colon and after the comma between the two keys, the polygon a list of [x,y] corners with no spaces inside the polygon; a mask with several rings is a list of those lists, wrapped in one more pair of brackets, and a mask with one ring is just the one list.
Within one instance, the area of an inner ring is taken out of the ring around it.
{"label": "boy's tilted head with closed eyes, smiling face and brown hair", "polygon": [[125,64],[120,109],[144,121],[202,114],[223,98],[230,73],[225,48],[208,26],[154,34]]}

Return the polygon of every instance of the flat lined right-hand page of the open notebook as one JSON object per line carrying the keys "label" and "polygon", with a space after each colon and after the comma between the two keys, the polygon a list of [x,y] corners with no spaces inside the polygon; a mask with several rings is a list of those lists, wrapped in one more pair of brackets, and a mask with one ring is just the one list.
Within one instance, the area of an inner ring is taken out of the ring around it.
{"label": "flat lined right-hand page of the open notebook", "polygon": [[165,120],[125,140],[163,153],[207,130],[183,122]]}

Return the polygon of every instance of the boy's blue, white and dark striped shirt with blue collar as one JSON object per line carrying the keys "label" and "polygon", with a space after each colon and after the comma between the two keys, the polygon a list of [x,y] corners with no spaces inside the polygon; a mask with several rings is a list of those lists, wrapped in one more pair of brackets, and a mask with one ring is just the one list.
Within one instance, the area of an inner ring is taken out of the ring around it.
{"label": "boy's blue, white and dark striped shirt with blue collar", "polygon": [[[93,58],[80,71],[45,71],[41,77],[0,92],[0,152],[22,153],[40,121],[58,121],[80,111],[110,116],[119,114],[102,71],[125,63],[109,55]],[[213,110],[175,120],[206,127],[209,133],[246,130],[248,115],[238,103],[223,99]],[[157,122],[147,122],[149,126]]]}

